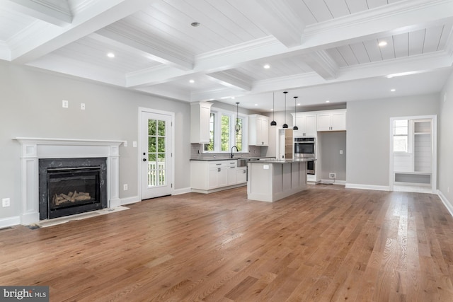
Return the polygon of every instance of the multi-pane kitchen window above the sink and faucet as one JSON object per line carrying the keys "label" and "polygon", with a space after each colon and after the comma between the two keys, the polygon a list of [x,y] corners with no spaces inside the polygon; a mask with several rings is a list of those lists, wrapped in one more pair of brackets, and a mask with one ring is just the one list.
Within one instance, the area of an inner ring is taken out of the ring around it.
{"label": "multi-pane kitchen window above the sink and faucet", "polygon": [[[204,153],[226,153],[236,146],[239,152],[248,152],[247,115],[230,112],[222,109],[211,108],[210,115],[210,144],[204,144]],[[239,124],[239,132],[236,132],[236,123]],[[234,149],[236,152],[236,149]]]}

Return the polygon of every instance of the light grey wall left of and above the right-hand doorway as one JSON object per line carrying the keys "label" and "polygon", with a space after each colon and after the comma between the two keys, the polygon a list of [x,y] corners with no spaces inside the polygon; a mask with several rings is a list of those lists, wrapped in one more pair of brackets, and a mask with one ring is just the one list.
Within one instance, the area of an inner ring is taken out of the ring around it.
{"label": "light grey wall left of and above the right-hand doorway", "polygon": [[437,114],[437,93],[348,102],[347,186],[388,190],[390,117]]}

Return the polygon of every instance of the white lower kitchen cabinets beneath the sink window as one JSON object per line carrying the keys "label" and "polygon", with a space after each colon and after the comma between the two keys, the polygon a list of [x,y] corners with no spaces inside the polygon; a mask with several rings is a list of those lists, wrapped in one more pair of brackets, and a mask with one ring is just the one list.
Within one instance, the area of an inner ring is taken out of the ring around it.
{"label": "white lower kitchen cabinets beneath the sink window", "polygon": [[245,185],[245,169],[237,168],[236,160],[193,160],[190,161],[190,187],[193,192],[209,193]]}

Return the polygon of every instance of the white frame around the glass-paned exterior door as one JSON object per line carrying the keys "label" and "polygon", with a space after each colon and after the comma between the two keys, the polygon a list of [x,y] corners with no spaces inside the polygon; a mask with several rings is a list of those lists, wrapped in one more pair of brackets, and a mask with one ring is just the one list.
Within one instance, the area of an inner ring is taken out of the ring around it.
{"label": "white frame around the glass-paned exterior door", "polygon": [[175,122],[175,113],[174,112],[168,112],[168,111],[163,111],[163,110],[156,110],[156,109],[151,109],[151,108],[144,108],[144,107],[139,107],[139,112],[138,112],[138,128],[139,128],[139,139],[138,139],[138,149],[137,149],[137,156],[138,156],[138,161],[137,161],[137,168],[138,168],[138,174],[137,174],[137,179],[138,179],[138,197],[139,201],[142,201],[142,144],[143,144],[143,127],[142,127],[142,112],[148,112],[148,113],[156,113],[160,115],[169,115],[171,117],[171,194],[173,195],[175,193],[175,186],[174,186],[174,180],[175,180],[175,127],[174,127],[174,122]]}

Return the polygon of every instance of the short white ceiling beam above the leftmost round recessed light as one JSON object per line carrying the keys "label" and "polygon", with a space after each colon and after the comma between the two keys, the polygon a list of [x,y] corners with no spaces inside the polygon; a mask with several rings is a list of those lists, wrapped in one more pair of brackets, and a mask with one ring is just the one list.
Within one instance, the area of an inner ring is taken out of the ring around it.
{"label": "short white ceiling beam above the leftmost round recessed light", "polygon": [[176,45],[169,45],[168,42],[158,37],[139,37],[131,33],[122,33],[120,28],[109,26],[96,32],[103,35],[117,44],[128,45],[142,52],[156,62],[176,67],[182,70],[193,69],[193,57],[190,54],[178,51]]}

